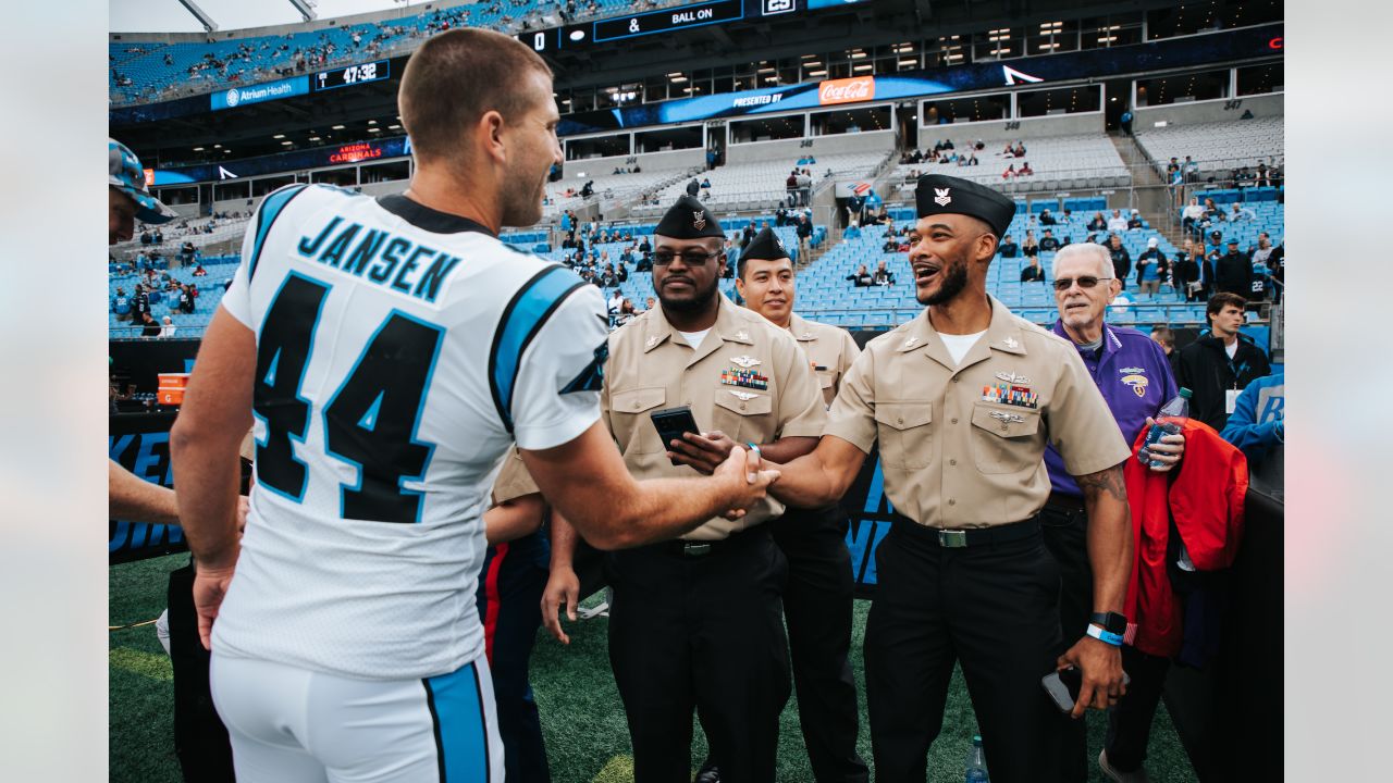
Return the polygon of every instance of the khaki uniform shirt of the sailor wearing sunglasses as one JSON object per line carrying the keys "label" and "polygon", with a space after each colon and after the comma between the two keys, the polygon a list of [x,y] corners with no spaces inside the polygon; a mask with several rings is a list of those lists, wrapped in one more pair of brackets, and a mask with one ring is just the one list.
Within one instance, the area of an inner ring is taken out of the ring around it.
{"label": "khaki uniform shirt of the sailor wearing sunglasses", "polygon": [[[649,418],[660,408],[691,405],[702,432],[719,429],[741,444],[822,435],[827,415],[797,340],[726,297],[696,348],[667,323],[660,307],[610,334],[609,348],[600,417],[634,478],[698,475],[667,460],[667,446]],[[766,497],[740,520],[715,517],[683,538],[719,541],[781,513],[783,504]]]}

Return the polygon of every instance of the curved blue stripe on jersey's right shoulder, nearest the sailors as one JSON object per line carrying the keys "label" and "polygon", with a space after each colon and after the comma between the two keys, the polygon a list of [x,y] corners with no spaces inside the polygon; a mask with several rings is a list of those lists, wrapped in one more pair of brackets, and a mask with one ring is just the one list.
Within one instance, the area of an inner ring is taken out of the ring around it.
{"label": "curved blue stripe on jersey's right shoulder, nearest the sailors", "polygon": [[570,269],[549,266],[524,283],[503,309],[489,352],[489,392],[508,432],[513,432],[513,389],[522,352],[566,297],[582,286],[585,281]]}

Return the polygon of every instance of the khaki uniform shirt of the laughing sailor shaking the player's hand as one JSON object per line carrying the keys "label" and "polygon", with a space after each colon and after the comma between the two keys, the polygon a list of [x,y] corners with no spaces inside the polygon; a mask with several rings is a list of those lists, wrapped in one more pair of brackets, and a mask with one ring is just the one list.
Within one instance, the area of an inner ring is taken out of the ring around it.
{"label": "khaki uniform shirt of the laughing sailor shaking the player's hand", "polygon": [[841,382],[826,435],[868,453],[879,439],[896,510],[947,529],[1035,515],[1050,492],[1046,439],[1071,475],[1131,454],[1078,351],[995,298],[986,334],[960,365],[926,309],[872,340]]}

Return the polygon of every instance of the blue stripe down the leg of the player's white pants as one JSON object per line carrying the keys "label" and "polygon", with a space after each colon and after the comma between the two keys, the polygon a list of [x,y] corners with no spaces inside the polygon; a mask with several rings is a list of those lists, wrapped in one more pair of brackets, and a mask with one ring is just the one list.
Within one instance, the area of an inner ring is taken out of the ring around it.
{"label": "blue stripe down the leg of the player's white pants", "polygon": [[489,738],[476,666],[469,663],[421,683],[435,724],[440,783],[488,783]]}

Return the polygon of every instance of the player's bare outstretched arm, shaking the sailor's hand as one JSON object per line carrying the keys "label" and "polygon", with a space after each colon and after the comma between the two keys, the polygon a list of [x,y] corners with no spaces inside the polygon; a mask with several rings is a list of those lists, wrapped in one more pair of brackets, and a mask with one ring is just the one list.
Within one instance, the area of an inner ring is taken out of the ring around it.
{"label": "player's bare outstretched arm, shaking the sailor's hand", "polygon": [[635,481],[605,425],[596,421],[554,449],[520,450],[552,506],[596,549],[625,549],[676,538],[765,497],[777,471],[758,470],[740,446],[710,478]]}

